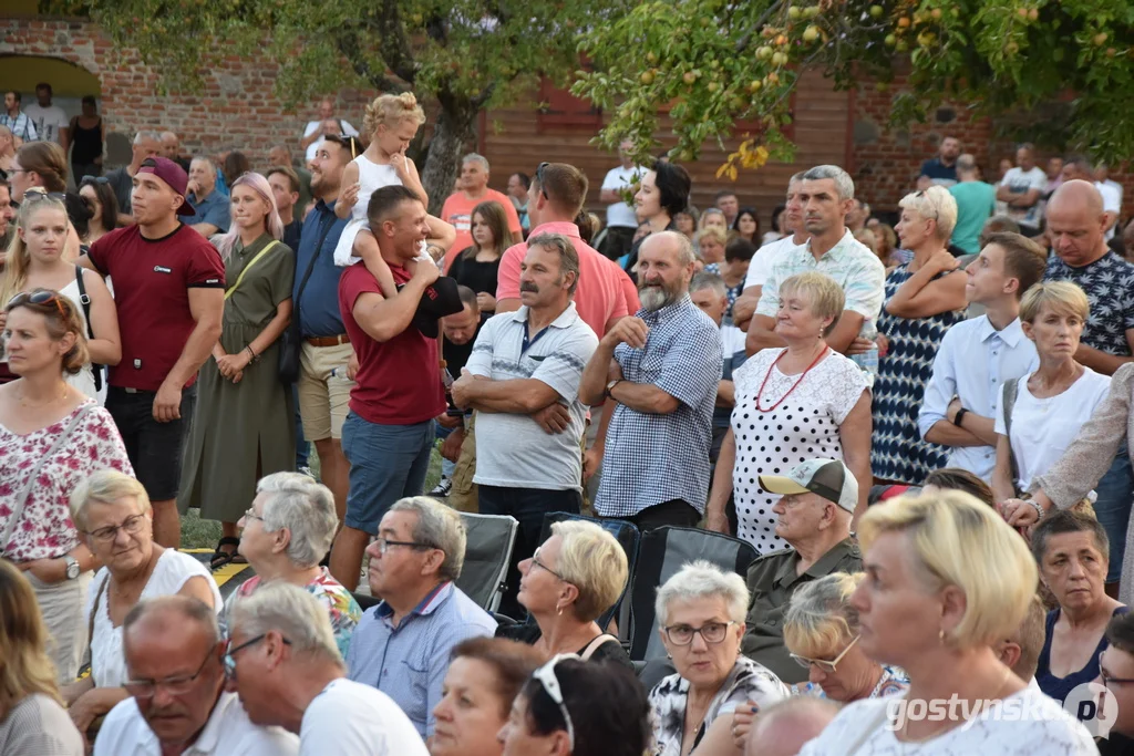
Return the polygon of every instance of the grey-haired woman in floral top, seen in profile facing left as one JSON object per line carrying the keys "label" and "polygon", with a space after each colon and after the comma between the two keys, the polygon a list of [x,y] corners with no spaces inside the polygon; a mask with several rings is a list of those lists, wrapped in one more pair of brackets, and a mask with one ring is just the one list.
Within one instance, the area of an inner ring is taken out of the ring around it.
{"label": "grey-haired woman in floral top, seen in profile facing left", "polygon": [[256,484],[256,498],[240,518],[239,553],[256,576],[229,598],[264,583],[284,580],[311,592],[327,608],[339,653],[346,657],[362,608],[350,592],[319,562],[327,555],[339,526],[330,489],[298,473],[274,473]]}

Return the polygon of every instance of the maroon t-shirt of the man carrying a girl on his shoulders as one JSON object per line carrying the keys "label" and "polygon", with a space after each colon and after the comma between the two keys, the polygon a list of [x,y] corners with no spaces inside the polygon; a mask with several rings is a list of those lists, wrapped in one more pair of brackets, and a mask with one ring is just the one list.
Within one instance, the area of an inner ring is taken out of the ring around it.
{"label": "maroon t-shirt of the man carrying a girl on his shoulders", "polygon": [[[400,265],[390,265],[390,272],[398,283],[412,278]],[[437,339],[422,335],[411,324],[389,341],[375,341],[354,318],[355,303],[364,294],[381,296],[382,290],[366,266],[357,263],[339,278],[339,311],[358,356],[350,411],[379,425],[413,425],[441,415],[446,401]]]}

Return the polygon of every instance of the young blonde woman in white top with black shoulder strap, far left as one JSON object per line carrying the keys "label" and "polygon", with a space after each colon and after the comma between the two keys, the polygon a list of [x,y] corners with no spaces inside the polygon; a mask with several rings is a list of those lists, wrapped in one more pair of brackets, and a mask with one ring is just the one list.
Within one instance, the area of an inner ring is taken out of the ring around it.
{"label": "young blonde woman in white top with black shoulder strap, far left", "polygon": [[[17,233],[8,247],[8,258],[0,277],[0,305],[22,291],[58,291],[74,303],[84,318],[91,362],[117,365],[122,350],[115,301],[102,277],[64,260],[68,228],[67,210],[61,195],[32,189],[24,194]],[[79,291],[81,280],[88,300],[85,305]],[[90,323],[86,322],[87,308],[91,313]],[[67,382],[92,399],[98,398],[91,363],[84,365],[77,374],[68,375]]]}

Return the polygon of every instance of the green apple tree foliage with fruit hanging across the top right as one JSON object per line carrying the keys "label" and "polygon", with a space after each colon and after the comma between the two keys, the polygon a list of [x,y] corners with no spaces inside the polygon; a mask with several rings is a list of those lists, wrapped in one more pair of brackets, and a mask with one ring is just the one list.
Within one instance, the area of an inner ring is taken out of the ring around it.
{"label": "green apple tree foliage with fruit hanging across the top right", "polygon": [[907,74],[895,125],[943,101],[989,116],[1064,101],[1068,145],[1134,155],[1131,0],[648,0],[590,27],[579,49],[593,66],[574,92],[610,112],[608,146],[655,147],[658,103],[670,105],[679,160],[706,139],[745,137],[738,120],[761,121],[721,167],[734,178],[769,152],[790,154],[781,129],[812,68],[840,88],[885,90]]}

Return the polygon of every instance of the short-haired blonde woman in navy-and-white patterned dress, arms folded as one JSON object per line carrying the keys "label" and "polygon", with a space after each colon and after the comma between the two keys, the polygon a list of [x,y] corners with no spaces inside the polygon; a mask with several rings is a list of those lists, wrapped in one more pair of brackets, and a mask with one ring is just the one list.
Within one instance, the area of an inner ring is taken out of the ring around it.
{"label": "short-haired blonde woman in navy-and-white patterned dress, arms folded", "polygon": [[[945,447],[922,440],[917,411],[945,332],[964,320],[967,278],[948,248],[957,224],[953,195],[931,186],[898,205],[898,237],[914,256],[886,277],[870,466],[879,479],[917,485],[948,465]],[[853,345],[852,351],[864,346]]]}

